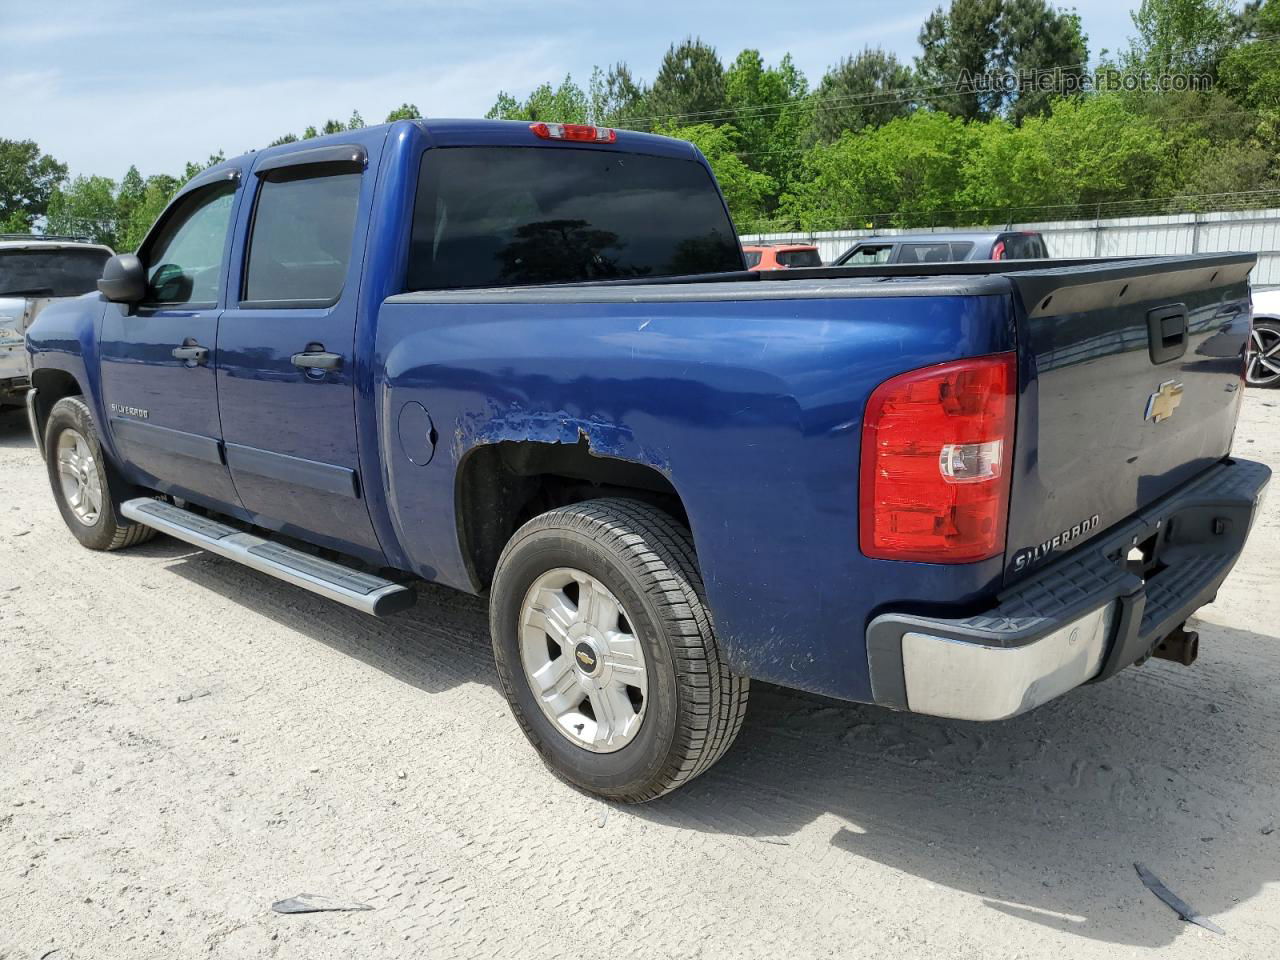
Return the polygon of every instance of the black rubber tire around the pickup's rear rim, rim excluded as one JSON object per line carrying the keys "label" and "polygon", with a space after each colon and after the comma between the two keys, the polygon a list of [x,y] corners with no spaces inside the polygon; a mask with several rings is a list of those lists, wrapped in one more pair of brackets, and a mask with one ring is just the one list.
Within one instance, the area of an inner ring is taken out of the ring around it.
{"label": "black rubber tire around the pickup's rear rim, rim excluded", "polygon": [[[593,753],[539,708],[520,654],[520,612],[532,582],[573,567],[618,599],[643,644],[648,695],[635,739]],[[742,726],[746,677],[721,659],[689,531],[644,503],[599,499],[525,524],[507,544],[489,603],[503,692],[525,735],[563,780],[609,800],[644,803],[716,763]]]}

